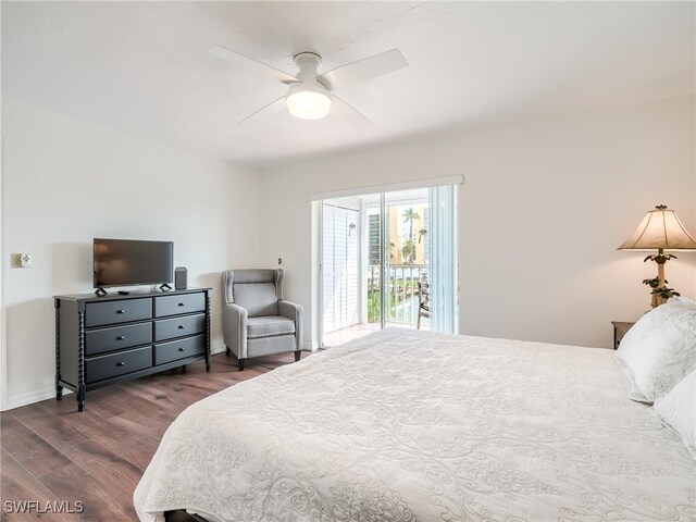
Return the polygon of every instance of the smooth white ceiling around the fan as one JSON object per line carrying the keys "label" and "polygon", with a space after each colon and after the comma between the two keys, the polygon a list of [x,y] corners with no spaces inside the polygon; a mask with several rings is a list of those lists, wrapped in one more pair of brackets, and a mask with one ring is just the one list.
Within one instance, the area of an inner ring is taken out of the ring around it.
{"label": "smooth white ceiling around the fan", "polygon": [[[266,167],[695,91],[694,2],[2,2],[2,86],[18,100]],[[337,92],[374,123],[287,112],[286,87],[204,52],[295,74],[399,48],[410,66]]]}

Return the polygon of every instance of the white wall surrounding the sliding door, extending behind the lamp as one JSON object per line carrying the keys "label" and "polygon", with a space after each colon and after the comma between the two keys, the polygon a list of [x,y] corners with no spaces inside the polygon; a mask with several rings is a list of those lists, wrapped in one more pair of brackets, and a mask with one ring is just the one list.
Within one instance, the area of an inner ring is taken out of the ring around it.
{"label": "white wall surrounding the sliding door, extending behind the lamp", "polygon": [[[309,194],[464,174],[460,332],[609,347],[657,273],[616,248],[666,203],[696,234],[694,97],[318,159],[263,173],[261,261],[282,257],[286,298],[311,313]],[[696,295],[696,254],[667,277]],[[315,339],[314,339],[315,340]]]}

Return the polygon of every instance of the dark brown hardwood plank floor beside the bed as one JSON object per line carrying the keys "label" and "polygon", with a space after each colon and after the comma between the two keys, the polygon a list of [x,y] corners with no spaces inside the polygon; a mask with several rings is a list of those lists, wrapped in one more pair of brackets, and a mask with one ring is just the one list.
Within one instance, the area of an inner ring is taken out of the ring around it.
{"label": "dark brown hardwood plank floor beside the bed", "polygon": [[[234,357],[219,353],[208,373],[200,361],[89,391],[82,413],[74,394],[3,412],[1,520],[138,520],[133,492],[172,421],[203,397],[293,361],[291,352],[249,359],[239,372]],[[21,514],[21,501],[37,505]],[[82,502],[83,512],[37,512],[61,502],[63,511]]]}

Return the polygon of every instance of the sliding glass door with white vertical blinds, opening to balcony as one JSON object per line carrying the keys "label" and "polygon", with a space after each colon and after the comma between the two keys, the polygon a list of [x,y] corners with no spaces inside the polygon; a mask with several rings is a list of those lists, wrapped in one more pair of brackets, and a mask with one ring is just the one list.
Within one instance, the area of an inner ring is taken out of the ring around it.
{"label": "sliding glass door with white vertical blinds, opening to balcony", "polygon": [[321,208],[321,346],[387,326],[457,331],[455,186]]}

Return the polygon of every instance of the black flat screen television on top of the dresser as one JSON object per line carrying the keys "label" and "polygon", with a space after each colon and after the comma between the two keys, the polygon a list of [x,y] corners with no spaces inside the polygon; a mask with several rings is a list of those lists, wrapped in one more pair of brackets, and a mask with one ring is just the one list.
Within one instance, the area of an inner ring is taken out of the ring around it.
{"label": "black flat screen television on top of the dresser", "polygon": [[166,285],[174,273],[172,241],[95,238],[95,288]]}

